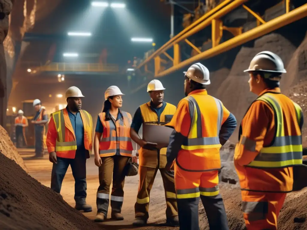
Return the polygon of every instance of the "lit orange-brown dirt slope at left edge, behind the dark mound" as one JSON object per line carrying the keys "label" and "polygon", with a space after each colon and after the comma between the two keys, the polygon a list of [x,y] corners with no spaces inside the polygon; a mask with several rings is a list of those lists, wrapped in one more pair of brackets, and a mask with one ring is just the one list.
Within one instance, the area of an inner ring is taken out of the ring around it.
{"label": "lit orange-brown dirt slope at left edge, behind the dark mound", "polygon": [[0,125],[0,153],[4,154],[6,157],[14,160],[20,165],[23,170],[28,172],[27,167],[21,156],[19,155],[17,148],[10,139],[10,136],[6,130]]}

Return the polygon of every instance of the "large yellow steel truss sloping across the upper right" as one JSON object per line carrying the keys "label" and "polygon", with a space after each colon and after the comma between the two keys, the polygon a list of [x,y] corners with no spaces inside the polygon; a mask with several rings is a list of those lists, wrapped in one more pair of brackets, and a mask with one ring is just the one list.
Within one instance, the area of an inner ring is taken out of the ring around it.
{"label": "large yellow steel truss sloping across the upper right", "polygon": [[[223,1],[216,8],[210,10],[208,13],[205,13],[204,16],[199,18],[197,21],[192,23],[190,26],[185,28],[183,31],[181,31],[179,34],[177,34],[171,40],[165,43],[150,57],[140,63],[137,68],[141,68],[142,66],[144,66],[145,70],[147,70],[147,64],[151,60],[154,60],[154,75],[155,77],[162,77],[164,75],[177,71],[182,67],[192,64],[195,61],[201,59],[208,59],[210,57],[216,56],[220,53],[235,48],[248,41],[254,40],[260,36],[263,36],[267,33],[270,33],[276,29],[279,29],[285,25],[288,25],[307,16],[307,4],[304,4],[303,6],[300,6],[290,11],[290,0],[285,0],[284,3],[286,4],[286,13],[266,22],[259,14],[255,13],[250,8],[244,5],[244,3],[247,1],[248,0]],[[223,22],[220,20],[221,17],[241,5],[245,10],[247,10],[257,19],[257,27],[250,29],[244,33],[242,32],[242,27],[229,28],[223,26]],[[201,52],[194,44],[187,40],[187,38],[204,29],[210,24],[212,25],[212,48]],[[234,35],[234,37],[227,41],[224,41],[223,43],[220,43],[221,38],[223,36],[223,30],[229,31]],[[183,40],[193,49],[195,49],[198,54],[184,61],[181,61],[179,42]],[[166,51],[171,47],[173,47],[173,58],[166,53]],[[164,54],[168,59],[173,62],[172,67],[165,69],[161,66],[161,62],[165,62],[165,60],[161,59],[161,54]]]}

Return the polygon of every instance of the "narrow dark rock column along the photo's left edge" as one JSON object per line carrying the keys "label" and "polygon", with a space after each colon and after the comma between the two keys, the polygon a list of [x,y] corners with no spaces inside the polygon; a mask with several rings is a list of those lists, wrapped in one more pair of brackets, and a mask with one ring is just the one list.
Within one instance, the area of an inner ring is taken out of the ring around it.
{"label": "narrow dark rock column along the photo's left edge", "polygon": [[6,80],[6,60],[4,54],[3,41],[9,30],[9,14],[13,3],[10,0],[0,0],[0,125],[6,124],[7,107],[7,80]]}

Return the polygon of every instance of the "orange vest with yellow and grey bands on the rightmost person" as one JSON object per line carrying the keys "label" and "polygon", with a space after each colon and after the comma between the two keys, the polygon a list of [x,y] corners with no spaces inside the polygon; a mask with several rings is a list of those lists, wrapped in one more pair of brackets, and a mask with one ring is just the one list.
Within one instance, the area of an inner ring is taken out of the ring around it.
{"label": "orange vest with yellow and grey bands on the rightmost person", "polygon": [[[281,93],[266,91],[255,101],[262,101],[274,111],[275,135],[265,139],[258,155],[249,164],[237,168],[242,190],[290,192],[293,186],[293,166],[302,164],[302,137],[299,123],[301,108]],[[244,118],[243,118],[244,119]],[[259,124],[259,129],[262,128]],[[239,145],[244,145],[243,154],[255,152],[256,142],[239,132]],[[265,136],[266,137],[266,136]]]}

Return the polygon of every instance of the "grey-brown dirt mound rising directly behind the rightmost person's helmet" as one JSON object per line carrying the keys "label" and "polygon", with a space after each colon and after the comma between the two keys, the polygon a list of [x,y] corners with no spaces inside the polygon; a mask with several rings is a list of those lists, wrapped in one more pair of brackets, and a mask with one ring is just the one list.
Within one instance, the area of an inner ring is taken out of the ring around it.
{"label": "grey-brown dirt mound rising directly behind the rightmost person's helmet", "polygon": [[232,65],[230,74],[217,90],[217,98],[235,115],[238,121],[238,127],[231,136],[231,141],[238,141],[239,122],[242,121],[247,108],[256,98],[256,95],[249,91],[247,83],[249,77],[243,70],[247,69],[251,59],[257,53],[264,50],[276,53],[287,65],[295,49],[290,41],[282,35],[274,33],[256,40],[254,48],[241,48]]}

